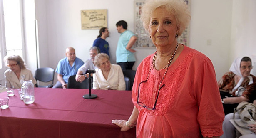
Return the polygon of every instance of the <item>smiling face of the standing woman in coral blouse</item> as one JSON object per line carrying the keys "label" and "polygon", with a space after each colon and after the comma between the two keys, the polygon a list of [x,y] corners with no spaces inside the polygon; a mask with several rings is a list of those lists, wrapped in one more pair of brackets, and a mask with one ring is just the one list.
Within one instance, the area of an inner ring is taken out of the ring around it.
{"label": "smiling face of the standing woman in coral blouse", "polygon": [[[176,42],[175,35],[179,27],[174,15],[165,8],[157,8],[150,17],[149,33],[156,47],[170,46]],[[176,45],[176,44],[175,44]]]}

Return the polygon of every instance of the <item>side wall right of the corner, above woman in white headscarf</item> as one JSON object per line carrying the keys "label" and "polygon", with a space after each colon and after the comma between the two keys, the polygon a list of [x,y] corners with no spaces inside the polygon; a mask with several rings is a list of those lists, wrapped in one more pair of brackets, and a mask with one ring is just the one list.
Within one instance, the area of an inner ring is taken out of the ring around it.
{"label": "side wall right of the corner, above woman in white headscarf", "polygon": [[[234,0],[231,24],[231,54],[229,64],[236,57],[249,56],[256,62],[256,0]],[[251,71],[256,75],[256,64]]]}

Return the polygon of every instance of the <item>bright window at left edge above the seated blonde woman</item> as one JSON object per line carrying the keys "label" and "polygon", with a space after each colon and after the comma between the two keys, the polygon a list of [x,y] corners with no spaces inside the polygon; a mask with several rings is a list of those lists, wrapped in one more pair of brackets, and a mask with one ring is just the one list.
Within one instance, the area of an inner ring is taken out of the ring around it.
{"label": "bright window at left edge above the seated blonde woman", "polygon": [[4,84],[3,57],[20,55],[24,45],[22,25],[22,0],[0,0],[0,83]]}

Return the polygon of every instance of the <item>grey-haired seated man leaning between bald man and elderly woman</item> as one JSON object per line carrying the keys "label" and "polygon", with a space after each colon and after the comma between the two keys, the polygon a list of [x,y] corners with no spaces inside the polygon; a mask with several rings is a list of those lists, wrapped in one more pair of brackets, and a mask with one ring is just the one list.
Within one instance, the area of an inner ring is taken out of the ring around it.
{"label": "grey-haired seated man leaning between bald man and elderly woman", "polygon": [[[95,70],[97,67],[94,65],[94,57],[97,56],[99,53],[98,47],[91,47],[90,48],[90,59],[87,59],[85,61],[85,64],[83,64],[77,71],[76,74],[76,81],[77,82],[83,82],[85,78],[89,77],[89,74],[85,74],[88,69]],[[83,75],[85,74],[85,75]]]}

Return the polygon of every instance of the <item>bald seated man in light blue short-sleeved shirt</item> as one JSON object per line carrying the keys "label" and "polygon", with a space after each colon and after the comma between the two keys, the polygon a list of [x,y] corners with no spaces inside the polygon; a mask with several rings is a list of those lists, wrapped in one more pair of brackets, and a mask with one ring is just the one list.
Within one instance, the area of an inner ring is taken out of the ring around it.
{"label": "bald seated man in light blue short-sleeved shirt", "polygon": [[57,65],[56,73],[57,83],[52,88],[67,88],[68,78],[77,74],[77,70],[84,64],[84,62],[76,57],[75,49],[73,47],[67,47],[66,56],[61,59]]}

